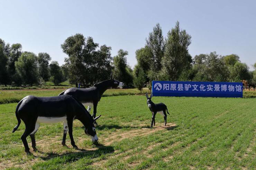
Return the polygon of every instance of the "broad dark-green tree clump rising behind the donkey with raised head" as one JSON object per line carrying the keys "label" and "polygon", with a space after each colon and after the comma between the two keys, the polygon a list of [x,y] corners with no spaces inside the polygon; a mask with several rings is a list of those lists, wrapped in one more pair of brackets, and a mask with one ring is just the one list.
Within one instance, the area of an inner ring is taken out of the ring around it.
{"label": "broad dark-green tree clump rising behind the donkey with raised head", "polygon": [[70,83],[90,87],[109,78],[112,69],[111,47],[103,45],[99,48],[92,37],[85,39],[82,34],[75,34],[68,37],[61,48],[68,55],[62,67]]}

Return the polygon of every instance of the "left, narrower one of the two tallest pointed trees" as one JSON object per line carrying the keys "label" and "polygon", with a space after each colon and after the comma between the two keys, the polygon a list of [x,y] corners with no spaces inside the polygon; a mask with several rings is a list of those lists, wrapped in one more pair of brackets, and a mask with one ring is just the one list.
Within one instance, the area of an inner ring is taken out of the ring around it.
{"label": "left, narrower one of the two tallest pointed trees", "polygon": [[158,72],[162,68],[162,58],[164,56],[164,37],[160,24],[157,23],[153,28],[153,32],[150,32],[146,39],[146,48],[149,49],[147,55],[149,57],[150,69],[154,72]]}

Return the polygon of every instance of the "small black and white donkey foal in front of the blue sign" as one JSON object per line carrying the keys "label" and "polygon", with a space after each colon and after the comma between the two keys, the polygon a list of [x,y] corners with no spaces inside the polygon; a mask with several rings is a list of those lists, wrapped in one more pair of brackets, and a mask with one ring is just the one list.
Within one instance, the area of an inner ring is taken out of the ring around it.
{"label": "small black and white donkey foal in front of the blue sign", "polygon": [[[148,93],[146,92],[146,97],[147,97],[147,105],[149,110],[152,112],[152,121],[151,121],[151,128],[153,127],[153,124],[155,126],[155,116],[156,113],[160,113],[162,114],[162,116],[164,117],[164,126],[166,126],[166,119],[167,119],[167,114],[166,112],[169,114],[168,110],[167,110],[167,106],[164,103],[158,103],[155,104],[153,103],[153,101],[151,100],[153,97],[153,93],[151,93],[151,96],[148,97]],[[165,112],[166,111],[166,112]],[[169,114],[170,115],[170,114]]]}

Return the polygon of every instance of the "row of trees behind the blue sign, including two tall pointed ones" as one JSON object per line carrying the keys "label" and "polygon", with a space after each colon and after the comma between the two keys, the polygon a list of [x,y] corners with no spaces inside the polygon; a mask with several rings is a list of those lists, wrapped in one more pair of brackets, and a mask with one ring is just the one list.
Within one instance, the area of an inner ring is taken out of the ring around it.
{"label": "row of trees behind the blue sign, including two tall pointed ones", "polygon": [[[145,47],[136,51],[137,65],[134,68],[134,83],[141,89],[152,80],[166,81],[233,81],[248,80],[256,83],[256,70],[249,71],[239,56],[199,54],[193,59],[188,52],[191,36],[180,28],[177,21],[164,38],[158,24],[149,33]],[[256,69],[256,63],[254,64]]]}

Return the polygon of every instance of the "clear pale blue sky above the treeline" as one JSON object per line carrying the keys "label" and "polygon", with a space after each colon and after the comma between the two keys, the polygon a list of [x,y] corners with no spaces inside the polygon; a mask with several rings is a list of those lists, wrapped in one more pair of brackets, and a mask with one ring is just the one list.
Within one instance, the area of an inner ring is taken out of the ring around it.
{"label": "clear pale blue sky above the treeline", "polygon": [[192,36],[189,52],[216,51],[238,54],[252,70],[256,62],[256,1],[25,1],[0,0],[0,38],[21,43],[23,51],[47,52],[64,63],[64,40],[82,33],[100,45],[129,52],[127,61],[136,64],[135,51],[160,23],[164,37],[180,21]]}

